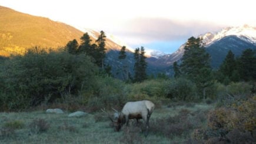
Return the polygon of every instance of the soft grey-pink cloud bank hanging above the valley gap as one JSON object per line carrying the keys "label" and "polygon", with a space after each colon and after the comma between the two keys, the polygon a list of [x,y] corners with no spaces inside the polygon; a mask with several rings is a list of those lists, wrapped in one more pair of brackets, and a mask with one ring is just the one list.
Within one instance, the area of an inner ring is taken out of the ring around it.
{"label": "soft grey-pink cloud bank hanging above the valley gap", "polygon": [[115,29],[115,35],[127,43],[149,43],[155,41],[181,41],[206,32],[215,32],[223,26],[208,22],[174,21],[165,18],[135,18]]}

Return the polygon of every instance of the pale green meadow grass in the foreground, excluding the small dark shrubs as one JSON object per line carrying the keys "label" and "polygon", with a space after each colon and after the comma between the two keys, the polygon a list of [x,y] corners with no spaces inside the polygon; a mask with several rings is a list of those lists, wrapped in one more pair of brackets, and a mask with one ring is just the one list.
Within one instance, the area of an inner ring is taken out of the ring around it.
{"label": "pale green meadow grass in the foreground, excluding the small dark shrubs", "polygon": [[[211,108],[212,105],[199,103],[192,107],[162,106],[162,108],[155,109],[150,121],[153,124],[156,119],[175,116],[184,109],[195,112]],[[131,126],[128,128],[124,126],[121,132],[114,132],[108,120],[95,122],[95,115],[98,113],[82,118],[69,118],[68,114],[67,112],[57,115],[45,113],[45,111],[0,113],[0,143],[172,143],[185,140],[182,136],[168,138],[168,136],[153,132],[149,132],[149,135],[145,137],[141,128],[132,125],[135,120],[131,120]],[[43,119],[48,124],[48,129],[38,133],[32,131],[31,123],[35,119]],[[23,123],[24,126],[14,130],[7,129],[8,135],[4,135],[7,122]]]}

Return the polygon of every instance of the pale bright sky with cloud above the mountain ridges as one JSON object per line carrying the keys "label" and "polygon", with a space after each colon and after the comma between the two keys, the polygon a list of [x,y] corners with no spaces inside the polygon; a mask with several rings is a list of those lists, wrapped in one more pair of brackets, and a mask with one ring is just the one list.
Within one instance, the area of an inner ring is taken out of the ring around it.
{"label": "pale bright sky with cloud above the mountain ridges", "polygon": [[0,5],[164,53],[175,52],[191,36],[227,26],[256,27],[253,0],[0,0]]}

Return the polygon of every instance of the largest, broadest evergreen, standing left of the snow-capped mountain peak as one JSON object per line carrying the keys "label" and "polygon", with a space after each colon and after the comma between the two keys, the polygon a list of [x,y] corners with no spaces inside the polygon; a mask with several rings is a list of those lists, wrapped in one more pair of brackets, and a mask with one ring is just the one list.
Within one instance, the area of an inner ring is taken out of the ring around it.
{"label": "largest, broadest evergreen, standing left of the snow-capped mountain peak", "polygon": [[191,37],[188,39],[182,56],[181,72],[197,84],[205,98],[206,88],[212,85],[212,76],[210,55],[205,51],[203,44],[201,38]]}

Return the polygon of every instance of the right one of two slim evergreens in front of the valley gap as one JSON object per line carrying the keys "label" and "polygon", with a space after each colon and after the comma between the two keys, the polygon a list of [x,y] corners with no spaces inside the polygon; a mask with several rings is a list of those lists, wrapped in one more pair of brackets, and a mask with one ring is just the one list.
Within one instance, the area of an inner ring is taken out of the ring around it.
{"label": "right one of two slim evergreens in front of the valley gap", "polygon": [[141,51],[139,48],[135,49],[134,53],[134,82],[142,82],[147,79],[147,62],[145,61],[147,57],[145,56],[145,49],[141,46]]}

